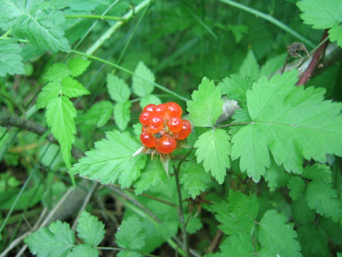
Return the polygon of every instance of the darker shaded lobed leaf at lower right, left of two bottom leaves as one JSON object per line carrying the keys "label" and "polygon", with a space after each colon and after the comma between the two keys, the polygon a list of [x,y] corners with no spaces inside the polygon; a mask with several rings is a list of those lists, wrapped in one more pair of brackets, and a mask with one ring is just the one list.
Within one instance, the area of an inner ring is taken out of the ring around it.
{"label": "darker shaded lobed leaf at lower right, left of two bottom leaves", "polygon": [[214,203],[215,217],[222,223],[219,228],[227,235],[254,233],[255,219],[259,211],[257,196],[229,191],[228,203]]}

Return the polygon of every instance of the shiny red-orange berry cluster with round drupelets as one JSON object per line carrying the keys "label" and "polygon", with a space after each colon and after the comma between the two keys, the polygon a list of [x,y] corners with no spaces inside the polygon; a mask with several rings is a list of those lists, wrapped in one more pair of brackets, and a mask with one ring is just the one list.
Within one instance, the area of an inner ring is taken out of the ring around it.
{"label": "shiny red-orange berry cluster with round drupelets", "polygon": [[141,143],[160,153],[171,153],[177,147],[177,140],[187,138],[191,132],[190,122],[181,117],[182,109],[174,102],[147,104],[139,117]]}

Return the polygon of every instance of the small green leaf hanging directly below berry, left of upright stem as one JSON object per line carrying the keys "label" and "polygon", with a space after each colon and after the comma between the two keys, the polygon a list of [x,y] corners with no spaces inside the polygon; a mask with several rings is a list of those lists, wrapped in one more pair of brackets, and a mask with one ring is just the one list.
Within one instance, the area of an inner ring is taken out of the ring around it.
{"label": "small green leaf hanging directly below berry, left of upright stem", "polygon": [[[140,129],[141,131],[141,129]],[[140,132],[141,133],[141,132]],[[166,180],[166,173],[160,160],[151,160],[141,172],[140,178],[135,182],[135,193],[140,194],[143,191],[158,186]]]}

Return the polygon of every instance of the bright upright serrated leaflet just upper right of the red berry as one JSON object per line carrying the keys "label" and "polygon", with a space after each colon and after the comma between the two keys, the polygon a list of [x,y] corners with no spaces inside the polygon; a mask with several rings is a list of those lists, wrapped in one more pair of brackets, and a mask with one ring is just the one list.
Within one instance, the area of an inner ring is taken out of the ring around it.
{"label": "bright upright serrated leaflet just upper right of the red berry", "polygon": [[204,77],[198,91],[192,93],[192,101],[187,101],[189,119],[194,126],[214,126],[222,114],[222,106],[221,90]]}

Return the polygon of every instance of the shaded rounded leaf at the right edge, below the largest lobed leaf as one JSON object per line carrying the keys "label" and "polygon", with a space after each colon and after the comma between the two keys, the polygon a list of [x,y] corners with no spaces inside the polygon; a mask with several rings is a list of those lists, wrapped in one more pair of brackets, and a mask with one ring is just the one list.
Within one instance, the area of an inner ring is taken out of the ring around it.
{"label": "shaded rounded leaf at the right edge, below the largest lobed leaf", "polygon": [[340,221],[342,218],[342,202],[337,198],[336,190],[330,184],[321,181],[312,181],[306,189],[306,201],[309,207],[317,213]]}

